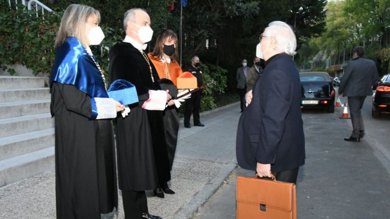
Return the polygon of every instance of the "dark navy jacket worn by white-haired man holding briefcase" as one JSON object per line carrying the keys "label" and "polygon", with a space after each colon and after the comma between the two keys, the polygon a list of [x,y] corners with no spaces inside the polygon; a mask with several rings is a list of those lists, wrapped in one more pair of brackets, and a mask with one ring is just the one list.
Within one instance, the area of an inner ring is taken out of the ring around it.
{"label": "dark navy jacket worn by white-haired man holding briefcase", "polygon": [[269,58],[252,94],[238,124],[238,164],[249,170],[256,170],[257,162],[271,164],[272,172],[302,166],[301,83],[293,59],[284,53]]}

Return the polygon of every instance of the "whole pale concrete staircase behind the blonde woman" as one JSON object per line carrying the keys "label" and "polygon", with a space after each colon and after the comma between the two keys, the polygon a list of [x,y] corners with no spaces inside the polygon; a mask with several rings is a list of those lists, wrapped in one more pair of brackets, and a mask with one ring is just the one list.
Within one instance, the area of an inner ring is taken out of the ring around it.
{"label": "whole pale concrete staircase behind the blonde woman", "polygon": [[43,77],[0,76],[0,187],[54,170],[54,120]]}

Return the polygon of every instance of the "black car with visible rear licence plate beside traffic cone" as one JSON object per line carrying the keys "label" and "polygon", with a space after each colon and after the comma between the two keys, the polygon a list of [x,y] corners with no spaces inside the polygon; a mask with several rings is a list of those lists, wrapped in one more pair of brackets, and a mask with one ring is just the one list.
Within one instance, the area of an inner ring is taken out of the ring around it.
{"label": "black car with visible rear licence plate beside traffic cone", "polygon": [[300,72],[302,108],[326,108],[335,112],[335,88],[326,72]]}

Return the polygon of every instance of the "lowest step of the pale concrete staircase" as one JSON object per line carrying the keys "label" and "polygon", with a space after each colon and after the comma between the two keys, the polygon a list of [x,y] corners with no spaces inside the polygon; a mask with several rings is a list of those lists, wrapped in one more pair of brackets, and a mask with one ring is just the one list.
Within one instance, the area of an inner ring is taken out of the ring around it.
{"label": "lowest step of the pale concrete staircase", "polygon": [[0,161],[0,187],[54,170],[54,146]]}

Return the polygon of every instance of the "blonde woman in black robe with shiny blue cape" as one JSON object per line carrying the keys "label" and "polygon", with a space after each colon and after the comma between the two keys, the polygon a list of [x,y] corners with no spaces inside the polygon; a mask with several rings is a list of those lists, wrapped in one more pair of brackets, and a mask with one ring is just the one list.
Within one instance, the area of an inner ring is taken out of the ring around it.
{"label": "blonde woman in black robe with shiny blue cape", "polygon": [[124,106],[108,98],[104,75],[89,48],[104,38],[99,21],[99,11],[70,5],[55,39],[50,111],[57,218],[100,218],[118,206],[113,131],[107,118],[116,117]]}

